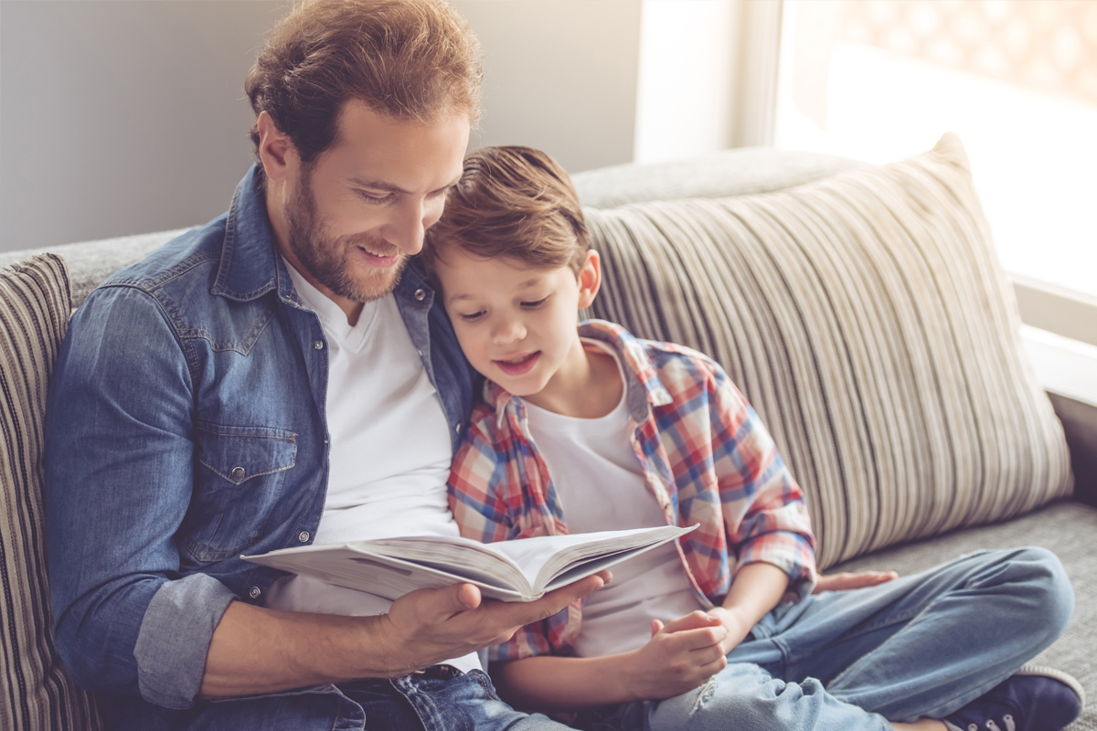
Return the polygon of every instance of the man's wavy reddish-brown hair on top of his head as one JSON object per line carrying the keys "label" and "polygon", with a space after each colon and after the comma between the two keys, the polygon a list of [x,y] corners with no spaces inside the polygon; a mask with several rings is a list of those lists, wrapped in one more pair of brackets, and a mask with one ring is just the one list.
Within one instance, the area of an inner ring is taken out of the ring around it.
{"label": "man's wavy reddish-brown hair on top of his head", "polygon": [[[445,0],[305,0],[271,30],[245,91],[305,163],[352,99],[402,121],[479,117],[479,45]],[[251,128],[259,149],[259,129]]]}

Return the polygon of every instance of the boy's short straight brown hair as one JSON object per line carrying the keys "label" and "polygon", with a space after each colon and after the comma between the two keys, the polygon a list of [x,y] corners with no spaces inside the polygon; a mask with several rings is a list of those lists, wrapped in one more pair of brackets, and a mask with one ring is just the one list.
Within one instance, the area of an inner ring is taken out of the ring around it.
{"label": "boy's short straight brown hair", "polygon": [[587,225],[572,179],[555,160],[530,147],[484,147],[470,153],[419,254],[436,284],[436,264],[452,247],[484,259],[516,259],[533,269],[567,266],[578,275],[588,247]]}

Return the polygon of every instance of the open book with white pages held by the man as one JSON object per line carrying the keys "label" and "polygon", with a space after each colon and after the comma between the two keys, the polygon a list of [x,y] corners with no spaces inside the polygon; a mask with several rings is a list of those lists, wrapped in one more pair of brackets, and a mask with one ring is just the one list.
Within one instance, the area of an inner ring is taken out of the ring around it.
{"label": "open book with white pages held by the man", "polygon": [[388,599],[417,589],[470,583],[479,586],[486,598],[532,602],[545,592],[638,556],[695,527],[667,525],[497,544],[411,536],[284,548],[240,558]]}

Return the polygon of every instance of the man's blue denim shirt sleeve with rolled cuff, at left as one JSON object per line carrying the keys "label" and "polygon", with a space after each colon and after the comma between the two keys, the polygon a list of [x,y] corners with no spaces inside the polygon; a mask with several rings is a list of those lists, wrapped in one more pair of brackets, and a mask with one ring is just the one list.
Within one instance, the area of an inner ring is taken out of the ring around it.
{"label": "man's blue denim shirt sleeve with rolled cuff, at left", "polygon": [[233,595],[180,566],[194,395],[170,318],[129,286],[73,316],[46,408],[45,505],[57,649],[77,683],[186,707]]}

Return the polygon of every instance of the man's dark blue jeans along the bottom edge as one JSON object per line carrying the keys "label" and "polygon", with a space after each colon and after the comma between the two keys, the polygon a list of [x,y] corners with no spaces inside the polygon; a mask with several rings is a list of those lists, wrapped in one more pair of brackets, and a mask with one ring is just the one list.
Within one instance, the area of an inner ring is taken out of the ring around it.
{"label": "man's dark blue jeans along the bottom edge", "polygon": [[452,678],[407,675],[200,701],[185,710],[134,698],[103,700],[110,717],[125,719],[111,728],[134,731],[568,731],[540,713],[513,710],[478,670]]}

